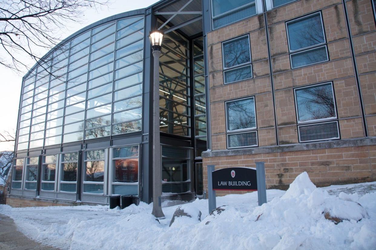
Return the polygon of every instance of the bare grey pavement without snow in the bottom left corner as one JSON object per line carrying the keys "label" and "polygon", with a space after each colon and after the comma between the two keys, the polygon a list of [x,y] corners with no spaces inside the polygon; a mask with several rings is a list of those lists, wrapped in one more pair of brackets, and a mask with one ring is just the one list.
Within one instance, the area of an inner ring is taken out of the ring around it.
{"label": "bare grey pavement without snow in the bottom left corner", "polygon": [[26,249],[56,249],[30,240],[17,230],[17,226],[8,216],[0,214],[0,249],[1,250],[26,250]]}

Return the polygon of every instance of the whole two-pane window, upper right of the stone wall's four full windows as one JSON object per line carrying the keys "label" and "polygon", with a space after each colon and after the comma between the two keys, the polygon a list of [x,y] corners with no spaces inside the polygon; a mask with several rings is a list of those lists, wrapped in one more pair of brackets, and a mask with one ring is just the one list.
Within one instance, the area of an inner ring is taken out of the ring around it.
{"label": "whole two-pane window, upper right of the stone wall's four full windows", "polygon": [[291,69],[329,60],[321,12],[286,22]]}

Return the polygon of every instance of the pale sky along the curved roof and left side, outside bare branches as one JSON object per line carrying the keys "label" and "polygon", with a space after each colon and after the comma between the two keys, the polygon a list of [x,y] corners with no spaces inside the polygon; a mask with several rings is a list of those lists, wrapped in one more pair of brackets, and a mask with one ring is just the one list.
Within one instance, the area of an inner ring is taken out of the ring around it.
{"label": "pale sky along the curved roof and left side, outside bare branches", "polygon": [[[80,23],[67,22],[66,27],[61,29],[61,33],[58,34],[59,37],[65,38],[86,27],[93,22],[99,21],[103,18],[126,12],[129,10],[141,9],[148,7],[157,0],[111,0],[111,3],[107,7],[102,7],[102,9],[86,9],[84,16]],[[42,52],[45,54],[48,52]],[[32,60],[27,60],[24,62],[30,67],[34,65],[35,62]],[[17,115],[18,106],[20,103],[20,91],[22,76],[26,73],[16,73],[10,69],[0,66],[0,86],[2,91],[0,92],[0,109],[2,110],[2,115],[0,116],[0,132],[4,131],[9,133],[15,133],[17,129]],[[4,150],[14,150],[14,142],[0,142],[0,151]]]}

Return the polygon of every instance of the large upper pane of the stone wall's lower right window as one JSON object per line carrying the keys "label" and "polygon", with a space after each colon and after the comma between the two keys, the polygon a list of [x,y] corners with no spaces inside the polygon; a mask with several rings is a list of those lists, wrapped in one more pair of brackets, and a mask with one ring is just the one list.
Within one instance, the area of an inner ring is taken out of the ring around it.
{"label": "large upper pane of the stone wall's lower right window", "polygon": [[296,102],[300,122],[337,117],[330,83],[296,90]]}

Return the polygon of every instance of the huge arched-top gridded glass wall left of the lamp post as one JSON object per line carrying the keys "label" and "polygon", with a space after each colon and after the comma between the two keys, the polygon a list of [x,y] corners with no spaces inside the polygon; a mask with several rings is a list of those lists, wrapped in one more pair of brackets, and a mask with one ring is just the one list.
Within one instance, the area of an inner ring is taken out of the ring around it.
{"label": "huge arched-top gridded glass wall left of the lamp post", "polygon": [[140,131],[143,45],[136,16],[56,49],[23,82],[17,150]]}

